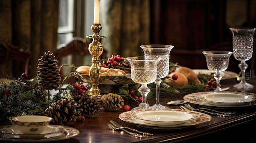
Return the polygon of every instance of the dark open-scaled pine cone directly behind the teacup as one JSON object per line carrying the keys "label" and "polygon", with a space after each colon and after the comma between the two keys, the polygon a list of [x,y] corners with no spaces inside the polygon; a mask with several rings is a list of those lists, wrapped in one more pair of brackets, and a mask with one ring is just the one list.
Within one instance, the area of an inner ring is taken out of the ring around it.
{"label": "dark open-scaled pine cone directly behind the teacup", "polygon": [[77,107],[78,105],[74,100],[61,99],[52,103],[45,112],[43,112],[43,115],[52,117],[53,124],[67,125],[72,121],[75,122],[77,116],[80,115],[79,112],[76,112]]}

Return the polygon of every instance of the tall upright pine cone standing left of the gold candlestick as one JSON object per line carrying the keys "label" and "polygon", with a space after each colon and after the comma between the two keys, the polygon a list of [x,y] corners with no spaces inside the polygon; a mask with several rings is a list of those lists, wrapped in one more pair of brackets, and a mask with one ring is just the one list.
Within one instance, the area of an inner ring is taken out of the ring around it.
{"label": "tall upright pine cone standing left of the gold candlestick", "polygon": [[46,90],[58,89],[61,84],[61,75],[58,60],[50,51],[38,59],[37,79],[38,85]]}

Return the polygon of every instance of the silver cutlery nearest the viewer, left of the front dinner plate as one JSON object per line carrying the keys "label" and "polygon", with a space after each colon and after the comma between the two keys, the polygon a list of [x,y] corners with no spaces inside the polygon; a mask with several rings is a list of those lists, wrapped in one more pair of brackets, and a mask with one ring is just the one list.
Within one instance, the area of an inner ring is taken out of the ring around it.
{"label": "silver cutlery nearest the viewer, left of the front dinner plate", "polygon": [[115,121],[112,121],[112,120],[110,120],[110,123],[107,123],[107,125],[111,130],[122,130],[122,131],[132,135],[133,137],[139,138],[139,139],[148,138],[148,136],[153,136],[153,134],[150,134],[148,132],[142,132],[142,131],[139,131],[139,130],[136,130],[133,128],[125,127]]}

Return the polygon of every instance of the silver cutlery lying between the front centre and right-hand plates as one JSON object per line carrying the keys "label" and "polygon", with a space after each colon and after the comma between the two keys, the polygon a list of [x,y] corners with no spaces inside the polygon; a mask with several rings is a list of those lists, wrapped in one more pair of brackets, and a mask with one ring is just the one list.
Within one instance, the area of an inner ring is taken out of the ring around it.
{"label": "silver cutlery lying between the front centre and right-hand plates", "polygon": [[221,112],[221,111],[208,109],[208,108],[195,109],[192,106],[190,106],[188,103],[185,103],[184,106],[180,106],[180,108],[183,109],[183,110],[204,112],[204,113],[207,113],[207,114],[216,115],[218,117],[223,117],[223,118],[226,118],[226,117],[229,117],[229,116],[234,116],[236,114],[236,112]]}

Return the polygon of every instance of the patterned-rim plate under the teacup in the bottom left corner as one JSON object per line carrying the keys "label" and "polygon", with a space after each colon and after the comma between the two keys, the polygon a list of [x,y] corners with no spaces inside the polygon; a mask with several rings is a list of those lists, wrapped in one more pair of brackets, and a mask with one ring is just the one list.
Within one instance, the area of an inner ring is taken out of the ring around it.
{"label": "patterned-rim plate under the teacup in the bottom left corner", "polygon": [[[68,139],[79,134],[79,130],[64,125],[48,125],[41,134],[22,134],[16,125],[1,126],[0,140],[14,142],[48,142]],[[65,135],[64,132],[68,134]],[[3,134],[5,133],[5,134]]]}

